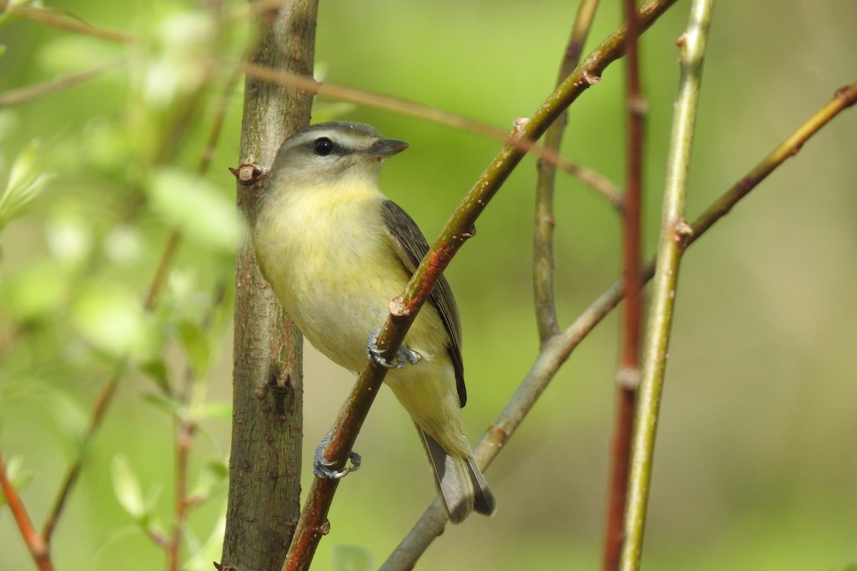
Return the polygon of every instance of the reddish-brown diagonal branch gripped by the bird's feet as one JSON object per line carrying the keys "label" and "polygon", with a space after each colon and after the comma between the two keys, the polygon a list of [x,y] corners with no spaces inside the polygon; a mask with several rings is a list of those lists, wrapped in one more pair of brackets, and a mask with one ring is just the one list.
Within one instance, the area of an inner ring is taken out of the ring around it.
{"label": "reddish-brown diagonal branch gripped by the bird's feet", "polygon": [[[644,6],[641,26],[649,27],[673,3],[674,0],[659,0]],[[458,252],[458,248],[473,235],[473,224],[476,218],[484,211],[515,166],[524,158],[525,151],[521,147],[531,146],[532,141],[538,140],[550,124],[560,116],[560,113],[592,85],[591,77],[600,75],[609,63],[621,57],[625,47],[622,42],[623,37],[624,28],[612,33],[583,64],[578,66],[575,73],[554,90],[532,116],[518,122],[518,128],[512,133],[511,140],[488,164],[488,168],[452,213],[452,217],[411,277],[405,293],[391,301],[390,316],[377,340],[378,347],[381,348],[385,358],[391,359],[399,349],[407,330],[417,317],[417,312],[434,288],[434,283],[446,269],[452,256]],[[521,145],[521,141],[526,145]],[[363,368],[351,394],[339,411],[339,417],[331,431],[330,443],[325,451],[325,458],[333,470],[342,470],[345,467],[348,453],[357,439],[357,433],[386,375],[386,370],[379,371],[379,369],[381,367],[370,364]],[[320,478],[313,480],[283,571],[309,568],[315,549],[327,530],[327,513],[338,485],[339,480]]]}

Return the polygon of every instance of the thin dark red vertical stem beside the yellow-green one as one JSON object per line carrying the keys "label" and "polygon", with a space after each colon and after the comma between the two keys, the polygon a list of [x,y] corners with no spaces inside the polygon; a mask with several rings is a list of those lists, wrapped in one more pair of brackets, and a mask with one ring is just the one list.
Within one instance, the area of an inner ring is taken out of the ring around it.
{"label": "thin dark red vertical stem beside the yellow-green one", "polygon": [[616,374],[617,402],[613,434],[612,467],[608,492],[602,568],[613,571],[619,565],[622,548],[622,516],[625,514],[628,460],[634,401],[639,381],[640,321],[643,315],[643,283],[640,276],[640,205],[643,195],[643,128],[645,101],[640,86],[636,0],[624,0],[627,53],[625,56],[628,113],[628,155],[625,202],[622,208],[623,284],[625,312],[622,324],[619,371]]}

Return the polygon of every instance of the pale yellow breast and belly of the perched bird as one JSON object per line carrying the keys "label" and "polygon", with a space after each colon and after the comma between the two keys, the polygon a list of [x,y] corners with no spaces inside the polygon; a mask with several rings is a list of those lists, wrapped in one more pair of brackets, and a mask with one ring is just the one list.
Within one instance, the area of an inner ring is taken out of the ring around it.
{"label": "pale yellow breast and belly of the perched bird", "polygon": [[[256,226],[262,271],[303,336],[339,366],[360,372],[368,362],[370,334],[384,325],[390,300],[410,278],[379,229],[380,209],[375,203],[357,216],[360,207],[353,202],[350,211],[321,208],[317,201],[311,208],[282,206]],[[460,426],[448,342],[437,310],[427,303],[405,336],[421,362],[390,371],[385,382],[423,430],[463,456],[469,445]]]}

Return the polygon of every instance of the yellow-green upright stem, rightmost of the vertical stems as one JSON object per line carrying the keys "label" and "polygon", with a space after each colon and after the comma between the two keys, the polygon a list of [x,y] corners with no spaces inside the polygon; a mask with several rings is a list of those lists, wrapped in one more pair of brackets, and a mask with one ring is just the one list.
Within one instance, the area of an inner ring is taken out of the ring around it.
{"label": "yellow-green upright stem, rightmost of the vertical stems", "polygon": [[658,240],[655,286],[646,331],[643,373],[634,428],[631,475],[626,509],[626,542],[621,553],[621,569],[639,568],[643,547],[645,510],[649,498],[655,432],[661,403],[663,373],[672,325],[675,288],[681,254],[692,229],[685,221],[687,173],[690,169],[693,131],[699,101],[699,86],[713,0],[695,0],[690,23],[679,39],[680,78],[675,104],[673,133],[664,188],[661,235]]}

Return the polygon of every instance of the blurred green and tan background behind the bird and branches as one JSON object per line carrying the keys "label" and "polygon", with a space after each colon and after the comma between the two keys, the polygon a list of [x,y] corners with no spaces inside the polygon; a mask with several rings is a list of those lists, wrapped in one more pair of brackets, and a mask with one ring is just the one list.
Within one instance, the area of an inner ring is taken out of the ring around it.
{"label": "blurred green and tan background behind the bird and branches", "polygon": [[[619,23],[618,4],[603,3],[588,47]],[[219,404],[231,398],[228,290],[237,228],[226,168],[237,161],[240,89],[228,102],[204,180],[192,172],[222,78],[191,107],[185,136],[175,136],[173,126],[203,76],[195,50],[237,57],[247,26],[237,19],[214,33],[200,6],[178,1],[51,6],[142,40],[117,45],[32,21],[0,27],[0,93],[129,57],[81,86],[0,110],[3,178],[33,140],[41,141],[33,171],[53,173],[24,216],[0,230],[0,450],[21,461],[23,497],[40,527],[94,399],[118,356],[131,355],[57,530],[53,558],[57,569],[159,568],[162,553],[114,489],[122,475],[138,481],[157,525],[168,528],[172,421],[153,397],[159,390],[152,375],[141,372],[159,359],[172,382],[188,360],[201,373],[194,402],[205,433],[195,441],[192,485],[208,462],[228,456],[229,414]],[[576,8],[549,1],[322,2],[317,68],[332,83],[510,129],[551,91]],[[686,0],[677,3],[642,42],[650,104],[647,253],[656,241],[676,91],[674,43],[688,8]],[[857,80],[854,8],[853,0],[716,6],[689,217],[836,88]],[[622,90],[621,64],[614,64],[572,106],[563,147],[617,183],[625,171]],[[369,122],[411,144],[388,162],[381,186],[429,240],[499,146],[385,110],[318,102],[315,120],[333,116]],[[686,255],[644,568],[842,569],[857,562],[855,149],[857,116],[848,110]],[[525,160],[506,182],[447,271],[464,327],[464,419],[472,441],[536,355],[534,165]],[[566,325],[616,277],[620,228],[602,199],[577,181],[560,175],[557,186],[557,298]],[[139,300],[175,224],[187,238],[158,310],[143,315]],[[219,305],[223,283],[227,301]],[[213,329],[194,332],[211,311]],[[617,338],[611,316],[572,354],[488,471],[499,503],[494,518],[447,528],[418,568],[600,566]],[[307,466],[351,381],[308,351]],[[368,550],[379,565],[434,497],[411,421],[387,391],[357,449],[364,467],[339,488],[332,532],[316,558],[320,569],[333,568],[338,546],[348,545]],[[196,556],[189,569],[209,569],[219,559],[225,486],[203,487],[210,497],[190,517],[185,555]],[[0,546],[0,570],[33,568],[6,508]]]}

